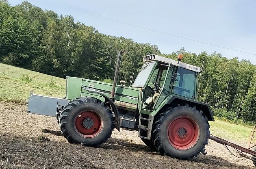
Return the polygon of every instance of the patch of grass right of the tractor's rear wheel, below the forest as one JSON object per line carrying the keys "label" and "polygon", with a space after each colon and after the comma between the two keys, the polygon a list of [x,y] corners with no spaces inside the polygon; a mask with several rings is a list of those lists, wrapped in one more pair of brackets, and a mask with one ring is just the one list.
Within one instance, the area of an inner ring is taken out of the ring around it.
{"label": "patch of grass right of the tractor's rear wheel, below the forest", "polygon": [[253,126],[241,126],[215,119],[209,121],[210,133],[224,139],[248,142]]}

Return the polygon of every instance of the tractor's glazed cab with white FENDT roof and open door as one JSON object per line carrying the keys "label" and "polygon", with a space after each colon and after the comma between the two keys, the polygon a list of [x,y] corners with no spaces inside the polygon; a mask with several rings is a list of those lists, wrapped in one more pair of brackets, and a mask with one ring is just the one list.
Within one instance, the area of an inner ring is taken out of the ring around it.
{"label": "tractor's glazed cab with white FENDT roof and open door", "polygon": [[170,94],[196,100],[200,67],[180,60],[158,55],[143,57],[144,64],[132,85],[143,88],[143,109],[151,111],[157,108]]}

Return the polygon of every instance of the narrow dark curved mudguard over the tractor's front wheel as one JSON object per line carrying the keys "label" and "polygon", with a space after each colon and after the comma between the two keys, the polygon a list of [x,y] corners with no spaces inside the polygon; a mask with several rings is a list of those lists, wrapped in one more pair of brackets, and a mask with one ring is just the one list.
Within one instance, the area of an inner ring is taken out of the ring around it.
{"label": "narrow dark curved mudguard over the tractor's front wheel", "polygon": [[[97,93],[99,95],[102,95],[103,98],[106,99],[106,101],[108,101],[108,103],[111,105],[112,111],[115,114],[115,128],[120,132],[120,117],[119,117],[119,111],[117,109],[117,106],[115,105],[115,103],[113,102],[113,100],[111,100],[111,98],[108,98],[108,96],[104,95],[103,93],[99,92],[99,91],[95,91],[95,90],[88,90],[85,89],[86,91],[88,91],[89,93]],[[105,101],[105,102],[106,102]]]}

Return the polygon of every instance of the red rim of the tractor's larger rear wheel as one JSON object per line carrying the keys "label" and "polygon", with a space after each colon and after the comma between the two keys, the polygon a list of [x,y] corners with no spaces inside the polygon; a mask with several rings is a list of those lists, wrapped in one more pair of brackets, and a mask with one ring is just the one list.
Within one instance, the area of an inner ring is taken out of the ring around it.
{"label": "red rim of the tractor's larger rear wheel", "polygon": [[189,116],[174,119],[168,127],[169,142],[178,150],[188,150],[193,147],[197,143],[199,135],[197,123]]}

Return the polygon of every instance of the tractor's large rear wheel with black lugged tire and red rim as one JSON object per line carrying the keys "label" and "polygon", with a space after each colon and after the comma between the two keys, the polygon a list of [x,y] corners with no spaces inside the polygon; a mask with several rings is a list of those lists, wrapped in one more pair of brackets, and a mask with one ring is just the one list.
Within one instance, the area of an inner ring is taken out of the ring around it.
{"label": "tractor's large rear wheel with black lugged tire and red rim", "polygon": [[154,123],[154,145],[163,155],[190,160],[204,153],[209,128],[207,117],[196,106],[177,104],[167,108]]}

